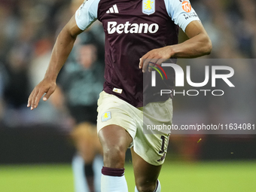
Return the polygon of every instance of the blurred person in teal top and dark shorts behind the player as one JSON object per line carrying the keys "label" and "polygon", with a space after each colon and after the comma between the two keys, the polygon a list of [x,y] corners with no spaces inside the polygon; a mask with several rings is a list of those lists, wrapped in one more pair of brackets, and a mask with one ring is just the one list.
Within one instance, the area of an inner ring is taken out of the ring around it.
{"label": "blurred person in teal top and dark shorts behind the player", "polygon": [[[63,110],[65,109],[63,106],[66,104],[66,108],[68,108],[74,121],[72,139],[74,139],[75,147],[84,160],[84,169],[81,167],[81,170],[76,170],[79,157],[75,156],[73,159],[75,190],[77,192],[100,190],[100,175],[98,173],[100,173],[103,163],[102,160],[100,162],[99,158],[96,158],[97,154],[102,154],[102,147],[96,133],[96,109],[99,93],[103,87],[104,72],[97,54],[93,33],[89,31],[79,35],[69,56],[69,62],[66,63],[59,75],[57,82],[59,87],[52,95],[53,105]],[[65,103],[62,103],[64,101]],[[98,165],[93,166],[94,162],[98,162]],[[81,181],[77,172],[83,170],[82,178],[84,181]],[[88,188],[84,187],[84,190],[81,190],[81,185],[84,184]]]}

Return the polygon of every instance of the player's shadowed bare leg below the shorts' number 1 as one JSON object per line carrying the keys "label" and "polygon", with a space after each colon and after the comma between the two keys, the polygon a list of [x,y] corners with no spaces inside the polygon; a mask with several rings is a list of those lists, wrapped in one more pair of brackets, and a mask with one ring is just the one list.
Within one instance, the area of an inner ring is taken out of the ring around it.
{"label": "player's shadowed bare leg below the shorts' number 1", "polygon": [[160,174],[161,165],[154,166],[150,163],[147,163],[142,159],[136,152],[131,148],[132,157],[133,157],[133,171],[136,180],[137,188],[145,187],[156,187],[157,178]]}

